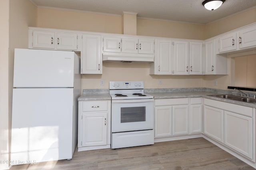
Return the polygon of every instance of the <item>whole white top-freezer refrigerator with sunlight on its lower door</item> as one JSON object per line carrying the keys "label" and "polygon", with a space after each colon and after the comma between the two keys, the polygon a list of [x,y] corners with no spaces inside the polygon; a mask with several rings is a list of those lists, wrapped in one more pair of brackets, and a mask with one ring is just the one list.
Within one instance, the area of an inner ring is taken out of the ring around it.
{"label": "whole white top-freezer refrigerator with sunlight on its lower door", "polygon": [[15,49],[13,164],[72,159],[80,81],[80,59],[73,51]]}

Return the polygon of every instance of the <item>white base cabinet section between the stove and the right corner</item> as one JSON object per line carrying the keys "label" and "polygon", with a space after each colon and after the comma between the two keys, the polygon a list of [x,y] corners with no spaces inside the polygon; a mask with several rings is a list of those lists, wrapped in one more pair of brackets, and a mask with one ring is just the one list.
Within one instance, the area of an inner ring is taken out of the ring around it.
{"label": "white base cabinet section between the stove and the right corner", "polygon": [[202,98],[156,99],[154,130],[155,138],[202,133]]}

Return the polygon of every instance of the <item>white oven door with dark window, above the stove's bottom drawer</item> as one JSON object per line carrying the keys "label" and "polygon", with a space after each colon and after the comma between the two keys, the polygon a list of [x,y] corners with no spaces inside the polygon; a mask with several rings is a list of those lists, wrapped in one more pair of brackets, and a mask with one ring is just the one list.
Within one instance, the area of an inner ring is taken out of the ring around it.
{"label": "white oven door with dark window, above the stove's bottom drawer", "polygon": [[112,100],[112,132],[139,131],[154,127],[154,99]]}

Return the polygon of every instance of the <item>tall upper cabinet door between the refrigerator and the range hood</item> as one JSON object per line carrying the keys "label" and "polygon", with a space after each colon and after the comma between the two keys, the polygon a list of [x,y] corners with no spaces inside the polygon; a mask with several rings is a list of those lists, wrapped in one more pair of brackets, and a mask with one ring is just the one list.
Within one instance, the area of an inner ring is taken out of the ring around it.
{"label": "tall upper cabinet door between the refrigerator and the range hood", "polygon": [[102,74],[100,35],[82,35],[81,74]]}

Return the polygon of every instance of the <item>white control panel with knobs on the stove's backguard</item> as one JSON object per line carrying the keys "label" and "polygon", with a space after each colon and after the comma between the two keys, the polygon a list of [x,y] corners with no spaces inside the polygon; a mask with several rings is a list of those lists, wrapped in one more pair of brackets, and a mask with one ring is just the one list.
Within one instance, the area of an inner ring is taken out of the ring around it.
{"label": "white control panel with knobs on the stove's backguard", "polygon": [[109,89],[143,89],[143,81],[110,81]]}

